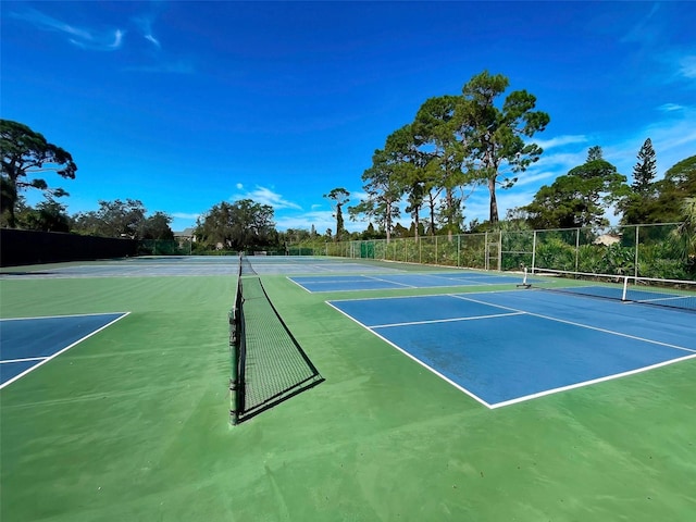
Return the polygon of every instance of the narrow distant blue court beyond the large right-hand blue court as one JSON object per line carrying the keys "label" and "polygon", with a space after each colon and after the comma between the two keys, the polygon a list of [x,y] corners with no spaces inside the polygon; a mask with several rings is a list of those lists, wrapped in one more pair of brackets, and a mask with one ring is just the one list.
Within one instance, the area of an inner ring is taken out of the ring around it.
{"label": "narrow distant blue court beyond the large right-hand blue court", "polygon": [[321,293],[506,285],[521,283],[522,276],[497,275],[482,272],[442,272],[428,274],[314,275],[289,277],[289,279],[307,291]]}

